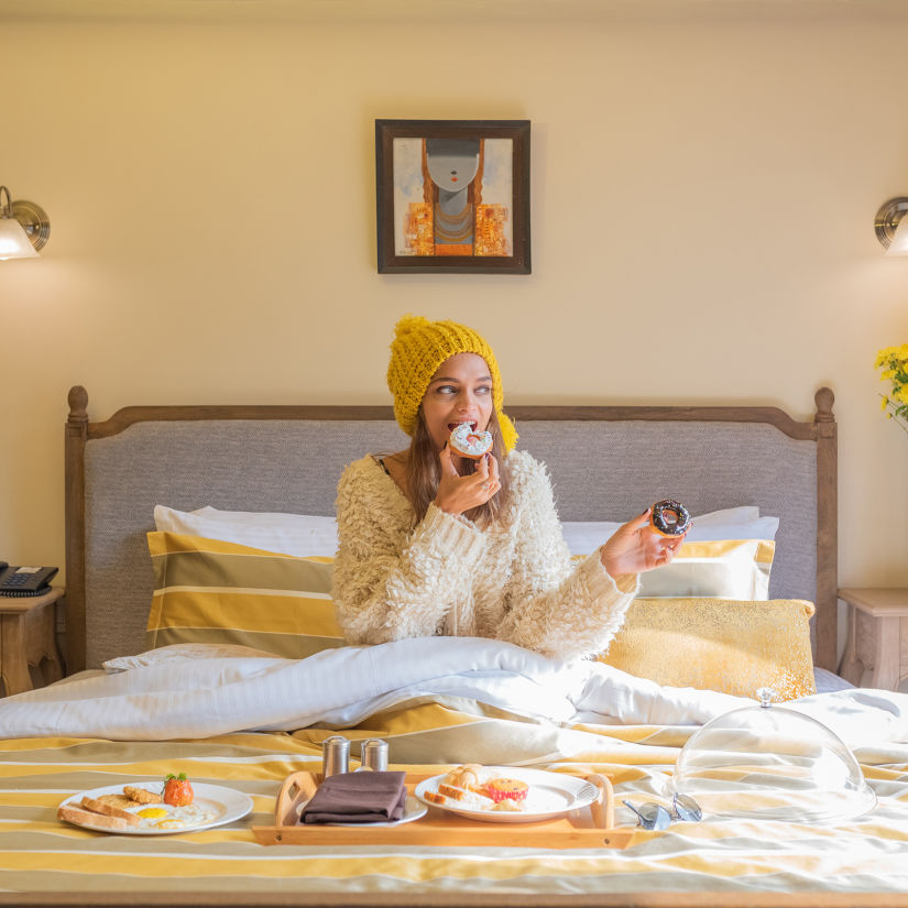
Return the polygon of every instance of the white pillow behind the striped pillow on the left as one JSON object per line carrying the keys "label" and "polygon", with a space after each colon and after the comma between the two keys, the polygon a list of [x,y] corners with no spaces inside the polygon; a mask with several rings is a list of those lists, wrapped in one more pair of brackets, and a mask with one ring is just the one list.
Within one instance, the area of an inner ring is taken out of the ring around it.
{"label": "white pillow behind the striped pillow on the left", "polygon": [[282,555],[333,556],[338,550],[337,521],[310,514],[281,514],[254,511],[176,511],[155,505],[154,525],[166,533],[183,533],[237,543]]}

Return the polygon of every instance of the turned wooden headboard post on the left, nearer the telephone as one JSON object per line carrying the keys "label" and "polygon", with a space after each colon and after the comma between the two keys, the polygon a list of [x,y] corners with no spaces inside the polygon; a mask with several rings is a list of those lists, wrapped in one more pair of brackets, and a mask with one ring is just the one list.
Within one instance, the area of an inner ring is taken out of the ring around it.
{"label": "turned wooden headboard post on the left, nearer the telephone", "polygon": [[69,389],[66,419],[66,672],[85,668],[85,442],[88,438],[88,392]]}

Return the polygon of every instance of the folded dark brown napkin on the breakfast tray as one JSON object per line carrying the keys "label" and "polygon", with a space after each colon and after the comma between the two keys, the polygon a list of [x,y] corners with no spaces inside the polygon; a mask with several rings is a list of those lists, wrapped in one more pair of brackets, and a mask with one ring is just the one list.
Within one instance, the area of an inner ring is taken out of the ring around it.
{"label": "folded dark brown napkin on the breakfast tray", "polygon": [[304,823],[384,823],[404,816],[405,773],[328,776],[303,809]]}

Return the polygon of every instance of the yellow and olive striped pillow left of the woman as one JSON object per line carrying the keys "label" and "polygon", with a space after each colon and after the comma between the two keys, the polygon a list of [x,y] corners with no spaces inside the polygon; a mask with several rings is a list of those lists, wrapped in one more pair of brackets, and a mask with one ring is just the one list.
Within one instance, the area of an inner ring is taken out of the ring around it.
{"label": "yellow and olive striped pillow left of the woman", "polygon": [[149,551],[150,649],[239,644],[302,659],[344,645],[331,599],[331,558],[163,532],[149,533]]}

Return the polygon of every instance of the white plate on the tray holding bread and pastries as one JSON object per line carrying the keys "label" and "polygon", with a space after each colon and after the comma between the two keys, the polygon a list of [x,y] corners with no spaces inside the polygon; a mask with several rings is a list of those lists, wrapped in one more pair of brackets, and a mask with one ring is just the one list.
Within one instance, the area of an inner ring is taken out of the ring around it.
{"label": "white plate on the tray holding bread and pastries", "polygon": [[435,803],[428,800],[425,797],[426,791],[437,792],[438,784],[445,780],[447,773],[420,781],[414,795],[423,803],[449,810],[451,813],[468,817],[471,820],[485,820],[490,823],[535,823],[539,820],[551,820],[555,817],[564,817],[571,810],[587,807],[599,797],[599,789],[592,783],[560,773],[523,769],[517,766],[483,766],[482,772],[486,778],[506,776],[525,781],[529,786],[529,792],[524,801],[524,809],[519,812],[483,810],[479,807],[461,806],[450,799],[447,803]]}

